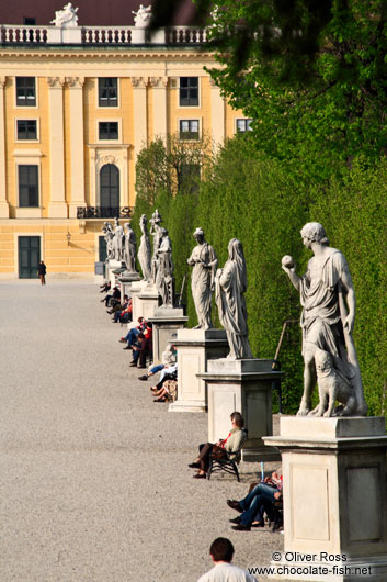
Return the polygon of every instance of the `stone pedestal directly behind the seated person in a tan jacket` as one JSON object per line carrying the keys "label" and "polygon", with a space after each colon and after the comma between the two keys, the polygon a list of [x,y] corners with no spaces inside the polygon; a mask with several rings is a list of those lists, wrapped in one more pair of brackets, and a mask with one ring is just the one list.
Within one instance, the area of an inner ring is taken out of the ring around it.
{"label": "stone pedestal directly behind the seated person in a tan jacket", "polygon": [[263,443],[273,434],[272,382],[283,372],[272,370],[273,360],[208,360],[203,378],[208,392],[208,441],[216,443],[229,433],[230,414],[242,414],[248,439],[242,450],[247,462],[280,459],[278,452]]}

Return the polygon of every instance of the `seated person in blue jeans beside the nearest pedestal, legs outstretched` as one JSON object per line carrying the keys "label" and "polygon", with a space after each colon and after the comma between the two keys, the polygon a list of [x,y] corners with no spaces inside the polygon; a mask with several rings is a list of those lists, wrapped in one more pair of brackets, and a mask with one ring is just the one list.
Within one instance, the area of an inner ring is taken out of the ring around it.
{"label": "seated person in blue jeans beside the nearest pedestal, legs outstretched", "polygon": [[263,513],[269,519],[274,521],[273,503],[282,499],[282,477],[274,471],[271,479],[265,479],[263,483],[258,483],[250,493],[240,501],[227,500],[227,505],[241,515],[231,523],[237,524],[232,529],[237,531],[250,531],[251,525],[264,527]]}

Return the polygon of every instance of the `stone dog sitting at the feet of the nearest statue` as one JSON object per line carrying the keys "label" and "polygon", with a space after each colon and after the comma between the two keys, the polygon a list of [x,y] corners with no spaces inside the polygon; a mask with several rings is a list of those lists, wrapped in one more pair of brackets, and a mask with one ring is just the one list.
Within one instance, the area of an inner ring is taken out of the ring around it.
{"label": "stone dog sitting at the feet of the nearest statue", "polygon": [[[356,411],[352,387],[333,367],[332,356],[317,348],[315,352],[317,383],[320,402],[309,412],[312,416],[351,416]],[[335,401],[342,405],[334,408]]]}

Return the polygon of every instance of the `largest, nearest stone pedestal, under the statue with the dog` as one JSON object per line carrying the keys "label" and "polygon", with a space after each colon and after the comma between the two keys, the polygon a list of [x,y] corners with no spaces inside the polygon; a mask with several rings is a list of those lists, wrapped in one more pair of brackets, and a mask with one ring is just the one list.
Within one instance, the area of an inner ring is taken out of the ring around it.
{"label": "largest, nearest stone pedestal, under the statue with the dog", "polygon": [[[285,547],[272,578],[387,580],[385,418],[282,417],[264,441],[280,449],[284,479]],[[300,566],[329,573],[292,575]]]}

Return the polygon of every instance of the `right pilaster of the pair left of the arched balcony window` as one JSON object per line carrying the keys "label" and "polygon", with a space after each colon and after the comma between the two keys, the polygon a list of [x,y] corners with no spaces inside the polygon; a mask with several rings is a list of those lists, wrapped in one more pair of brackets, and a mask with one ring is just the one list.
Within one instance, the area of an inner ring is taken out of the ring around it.
{"label": "right pilaster of the pair left of the arched balcony window", "polygon": [[84,198],[84,152],[83,152],[83,77],[67,77],[70,90],[70,164],[71,202],[70,219],[77,217],[77,208],[86,206]]}

